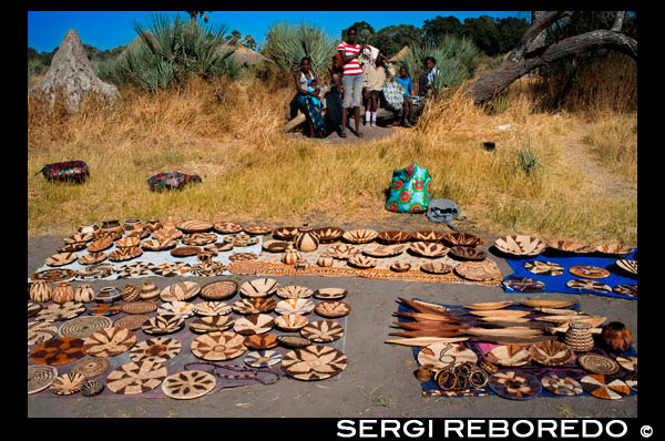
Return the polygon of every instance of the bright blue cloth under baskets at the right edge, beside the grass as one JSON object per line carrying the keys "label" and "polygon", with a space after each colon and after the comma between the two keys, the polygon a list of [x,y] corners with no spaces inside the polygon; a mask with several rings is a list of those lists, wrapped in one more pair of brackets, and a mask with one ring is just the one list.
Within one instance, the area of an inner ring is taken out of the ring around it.
{"label": "bright blue cloth under baskets at the right edge, beside the grass", "polygon": [[[433,201],[432,201],[433,202]],[[616,257],[597,257],[597,256],[552,256],[548,255],[549,250],[540,254],[535,257],[514,257],[507,258],[505,261],[513,269],[513,274],[503,278],[505,280],[509,277],[529,277],[535,280],[540,280],[545,284],[545,289],[536,293],[570,293],[570,294],[594,294],[596,296],[605,296],[605,297],[617,297],[625,298],[631,300],[637,300],[637,297],[624,296],[616,293],[600,293],[592,291],[590,289],[573,289],[565,286],[565,284],[573,279],[585,279],[584,277],[577,277],[569,271],[570,268],[574,266],[595,266],[598,268],[604,268],[610,271],[610,276],[602,279],[587,279],[595,280],[602,284],[610,286],[610,288],[614,288],[616,285],[637,285],[637,276],[631,275],[620,267],[616,266]],[[637,253],[637,248],[633,249],[631,254],[628,254],[625,259],[635,260],[635,253]],[[526,268],[524,268],[524,264],[532,260],[546,260],[552,261],[554,264],[559,264],[563,267],[564,273],[560,276],[541,276],[538,274],[533,274]],[[519,293],[513,289],[507,288],[501,285],[503,290],[507,293]]]}

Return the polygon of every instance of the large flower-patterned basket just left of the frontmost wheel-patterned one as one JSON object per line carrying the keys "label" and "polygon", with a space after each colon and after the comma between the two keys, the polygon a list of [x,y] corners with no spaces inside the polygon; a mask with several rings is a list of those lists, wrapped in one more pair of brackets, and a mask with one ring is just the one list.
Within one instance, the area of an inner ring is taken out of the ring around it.
{"label": "large flower-patterned basket just left of the frontmost wheel-patterned one", "polygon": [[106,377],[110,391],[121,394],[147,392],[160,386],[168,372],[154,361],[139,361],[122,365]]}

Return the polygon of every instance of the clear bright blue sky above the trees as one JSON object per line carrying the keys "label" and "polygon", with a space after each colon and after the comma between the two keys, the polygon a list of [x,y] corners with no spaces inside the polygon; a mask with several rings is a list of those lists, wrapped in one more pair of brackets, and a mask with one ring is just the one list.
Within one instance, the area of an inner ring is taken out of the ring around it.
{"label": "clear bright blue sky above the trees", "polygon": [[[113,49],[127,44],[135,37],[133,23],[147,28],[154,11],[28,11],[28,45],[40,52],[51,52],[70,29],[75,29],[85,44],[98,49]],[[178,12],[160,12],[176,16]],[[188,17],[180,12],[182,17]],[[277,21],[291,23],[307,21],[324,28],[335,38],[342,29],[356,21],[367,21],[376,30],[391,24],[413,24],[437,16],[466,18],[492,16],[497,18],[520,17],[529,19],[522,11],[213,11],[208,24],[226,25],[228,32],[237,29],[243,35],[252,35],[262,43],[268,27]]]}

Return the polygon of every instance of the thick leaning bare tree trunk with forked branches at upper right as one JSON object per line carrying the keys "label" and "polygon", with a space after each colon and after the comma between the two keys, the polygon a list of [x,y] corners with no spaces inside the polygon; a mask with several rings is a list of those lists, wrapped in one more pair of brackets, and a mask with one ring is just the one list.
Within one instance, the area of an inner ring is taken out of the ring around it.
{"label": "thick leaning bare tree trunk with forked branches at upper right", "polygon": [[613,12],[610,29],[596,28],[557,41],[545,39],[550,28],[571,16],[571,11],[533,11],[531,25],[507,59],[468,86],[473,101],[480,104],[491,99],[536,68],[596,49],[617,50],[637,61],[637,41],[622,32],[625,11]]}

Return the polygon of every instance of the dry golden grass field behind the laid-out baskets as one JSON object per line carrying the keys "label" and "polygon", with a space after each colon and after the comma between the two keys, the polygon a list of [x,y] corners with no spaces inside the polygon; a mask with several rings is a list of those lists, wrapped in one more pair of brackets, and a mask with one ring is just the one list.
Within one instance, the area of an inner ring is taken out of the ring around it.
{"label": "dry golden grass field behind the laid-out baskets", "polygon": [[[280,134],[293,92],[256,79],[192,80],[154,95],[122,86],[122,105],[89,99],[75,115],[29,99],[28,233],[152,215],[389,225],[399,216],[383,209],[392,170],[416,161],[433,176],[432,197],[460,205],[464,229],[636,245],[636,112],[543,111],[529,81],[511,86],[499,114],[449,91],[413,130],[335,145]],[[70,160],[88,163],[85,185],[35,176]],[[151,193],[147,177],[166,171],[196,173],[203,184]]]}

